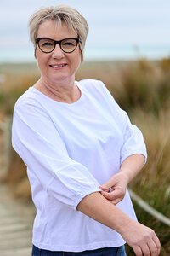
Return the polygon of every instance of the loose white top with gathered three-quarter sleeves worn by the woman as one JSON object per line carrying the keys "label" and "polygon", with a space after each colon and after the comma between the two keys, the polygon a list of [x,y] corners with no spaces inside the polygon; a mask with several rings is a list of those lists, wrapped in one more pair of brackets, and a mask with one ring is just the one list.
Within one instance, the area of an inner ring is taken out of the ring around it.
{"label": "loose white top with gathered three-quarter sleeves worn by the woman", "polygon": [[[124,244],[116,231],[78,212],[77,205],[99,191],[127,156],[146,156],[141,132],[105,85],[87,79],[77,86],[82,92],[77,102],[56,102],[31,87],[14,108],[12,143],[26,163],[37,207],[33,244],[51,251]],[[117,207],[136,219],[128,192]]]}

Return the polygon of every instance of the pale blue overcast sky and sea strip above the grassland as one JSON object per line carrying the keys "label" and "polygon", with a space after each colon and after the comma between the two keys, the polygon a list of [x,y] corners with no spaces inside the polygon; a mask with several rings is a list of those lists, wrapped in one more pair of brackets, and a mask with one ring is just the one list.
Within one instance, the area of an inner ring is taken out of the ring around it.
{"label": "pale blue overcast sky and sea strip above the grassland", "polygon": [[170,0],[1,0],[0,62],[32,61],[29,17],[60,3],[88,20],[87,58],[170,55]]}

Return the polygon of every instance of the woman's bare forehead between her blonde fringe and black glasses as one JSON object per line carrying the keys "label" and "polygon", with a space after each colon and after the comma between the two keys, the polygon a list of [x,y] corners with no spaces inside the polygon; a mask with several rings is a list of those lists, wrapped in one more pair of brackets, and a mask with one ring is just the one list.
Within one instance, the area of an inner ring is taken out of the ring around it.
{"label": "woman's bare forehead between her blonde fringe and black glasses", "polygon": [[57,22],[54,20],[44,20],[37,30],[37,38],[75,38],[77,32],[64,22]]}

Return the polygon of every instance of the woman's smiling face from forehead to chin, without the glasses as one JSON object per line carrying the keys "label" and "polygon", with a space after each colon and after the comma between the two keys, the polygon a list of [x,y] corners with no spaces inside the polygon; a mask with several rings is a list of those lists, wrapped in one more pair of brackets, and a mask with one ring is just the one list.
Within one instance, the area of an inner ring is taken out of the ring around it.
{"label": "woman's smiling face from forehead to chin, without the glasses", "polygon": [[[65,38],[77,38],[77,33],[69,30],[63,23],[56,26],[53,20],[44,21],[37,32],[37,38],[50,38],[56,41]],[[37,46],[37,64],[41,70],[43,81],[47,84],[64,83],[75,79],[75,73],[81,63],[81,52],[79,45],[71,53],[65,53],[59,44],[51,53],[44,53]]]}

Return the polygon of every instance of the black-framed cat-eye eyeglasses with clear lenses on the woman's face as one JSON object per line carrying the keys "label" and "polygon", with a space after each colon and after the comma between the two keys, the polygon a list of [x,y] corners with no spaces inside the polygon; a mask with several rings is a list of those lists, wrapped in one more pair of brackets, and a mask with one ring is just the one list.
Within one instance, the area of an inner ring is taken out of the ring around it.
{"label": "black-framed cat-eye eyeglasses with clear lenses on the woman's face", "polygon": [[71,53],[77,49],[77,44],[80,43],[79,38],[65,38],[55,41],[50,38],[37,38],[36,40],[39,49],[44,53],[50,53],[55,49],[56,44],[59,44],[60,49],[65,53]]}

